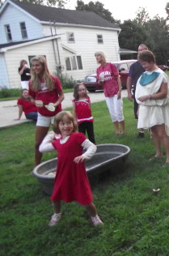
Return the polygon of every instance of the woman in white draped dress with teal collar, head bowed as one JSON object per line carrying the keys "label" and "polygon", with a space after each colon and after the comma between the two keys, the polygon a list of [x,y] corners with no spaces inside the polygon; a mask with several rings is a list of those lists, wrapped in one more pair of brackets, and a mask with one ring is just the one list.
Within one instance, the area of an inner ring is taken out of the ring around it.
{"label": "woman in white draped dress with teal collar, head bowed", "polygon": [[137,128],[150,129],[156,154],[162,157],[161,143],[166,149],[166,164],[169,165],[169,108],[168,76],[155,64],[154,54],[144,50],[138,55],[146,70],[137,81],[136,100],[139,104]]}

